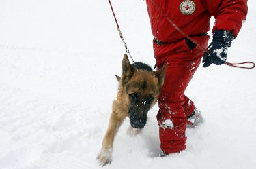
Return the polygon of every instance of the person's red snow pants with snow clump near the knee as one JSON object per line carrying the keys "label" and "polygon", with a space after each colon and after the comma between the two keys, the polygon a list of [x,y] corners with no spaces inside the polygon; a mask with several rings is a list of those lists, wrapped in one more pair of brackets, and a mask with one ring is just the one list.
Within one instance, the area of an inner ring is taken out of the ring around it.
{"label": "person's red snow pants with snow clump near the knee", "polygon": [[[209,36],[193,39],[207,48]],[[199,67],[203,52],[198,46],[191,50],[185,39],[164,45],[154,43],[156,66],[160,68],[169,63],[158,98],[157,115],[160,147],[164,153],[177,153],[186,149],[186,117],[193,113],[195,105],[184,92]]]}

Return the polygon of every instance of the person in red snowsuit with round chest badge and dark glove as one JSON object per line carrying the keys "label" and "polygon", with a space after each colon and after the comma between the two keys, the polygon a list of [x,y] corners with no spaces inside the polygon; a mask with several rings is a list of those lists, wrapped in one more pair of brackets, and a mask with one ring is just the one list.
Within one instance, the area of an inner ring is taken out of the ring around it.
{"label": "person in red snowsuit with round chest badge and dark glove", "polygon": [[188,119],[197,122],[198,111],[192,100],[184,95],[201,62],[204,51],[186,39],[163,16],[167,15],[177,26],[198,44],[207,48],[210,36],[210,18],[216,22],[212,29],[213,41],[210,54],[204,54],[203,67],[210,64],[224,64],[227,48],[236,38],[243,20],[246,20],[247,0],[146,0],[154,35],[153,48],[156,67],[168,63],[165,83],[158,99],[158,125],[160,147],[165,154],[186,149],[186,128]]}

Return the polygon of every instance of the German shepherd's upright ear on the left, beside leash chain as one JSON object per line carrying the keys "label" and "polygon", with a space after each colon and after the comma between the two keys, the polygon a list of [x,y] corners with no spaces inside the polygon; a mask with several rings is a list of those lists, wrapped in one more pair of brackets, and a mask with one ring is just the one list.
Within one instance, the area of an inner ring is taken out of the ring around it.
{"label": "German shepherd's upright ear on the left, beside leash chain", "polygon": [[127,83],[134,73],[134,68],[130,64],[127,54],[124,54],[122,61],[122,82]]}

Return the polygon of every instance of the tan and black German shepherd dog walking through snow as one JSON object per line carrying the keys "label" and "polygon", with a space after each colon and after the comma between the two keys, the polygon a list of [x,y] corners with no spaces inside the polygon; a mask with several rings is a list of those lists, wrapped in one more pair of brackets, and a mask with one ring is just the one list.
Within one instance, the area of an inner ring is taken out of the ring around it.
{"label": "tan and black German shepherd dog walking through snow", "polygon": [[122,76],[116,76],[119,82],[117,98],[113,101],[109,127],[97,157],[100,165],[111,163],[114,138],[126,117],[130,118],[130,134],[139,134],[145,126],[147,112],[158,100],[166,69],[167,64],[158,71],[141,62],[130,64],[128,56],[124,55]]}

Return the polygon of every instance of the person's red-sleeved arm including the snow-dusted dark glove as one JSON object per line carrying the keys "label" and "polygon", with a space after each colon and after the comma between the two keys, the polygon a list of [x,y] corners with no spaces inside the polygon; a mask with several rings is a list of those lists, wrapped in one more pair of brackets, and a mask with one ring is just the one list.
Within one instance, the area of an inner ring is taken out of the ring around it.
{"label": "person's red-sleeved arm including the snow-dusted dark glove", "polygon": [[246,20],[247,0],[206,0],[202,3],[216,19],[212,29],[212,43],[208,47],[210,54],[204,54],[203,67],[221,65],[227,60],[227,48]]}

